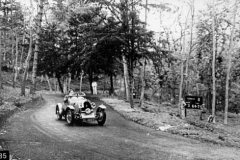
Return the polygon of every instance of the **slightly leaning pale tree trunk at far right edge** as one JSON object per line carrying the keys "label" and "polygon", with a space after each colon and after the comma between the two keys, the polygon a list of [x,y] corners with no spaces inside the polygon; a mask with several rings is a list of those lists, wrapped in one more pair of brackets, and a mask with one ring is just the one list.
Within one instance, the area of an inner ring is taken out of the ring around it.
{"label": "slightly leaning pale tree trunk at far right edge", "polygon": [[224,124],[227,124],[228,121],[228,92],[229,92],[229,79],[231,74],[231,63],[232,63],[232,54],[234,52],[233,48],[233,37],[235,35],[235,24],[236,24],[236,14],[237,14],[237,4],[238,0],[235,0],[234,5],[234,17],[233,17],[233,26],[230,35],[230,44],[229,44],[229,52],[228,52],[228,67],[227,67],[227,77],[226,77],[226,91],[225,91],[225,113],[224,113]]}

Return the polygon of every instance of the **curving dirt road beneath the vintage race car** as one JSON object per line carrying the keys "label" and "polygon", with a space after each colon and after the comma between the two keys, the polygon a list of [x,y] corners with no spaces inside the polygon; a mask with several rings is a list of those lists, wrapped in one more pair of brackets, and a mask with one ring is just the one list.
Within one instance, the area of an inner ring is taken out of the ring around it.
{"label": "curving dirt road beneath the vintage race car", "polygon": [[240,149],[155,131],[125,120],[109,106],[105,126],[96,122],[69,126],[55,115],[62,95],[43,98],[45,104],[14,115],[0,133],[0,144],[14,159],[240,159]]}

